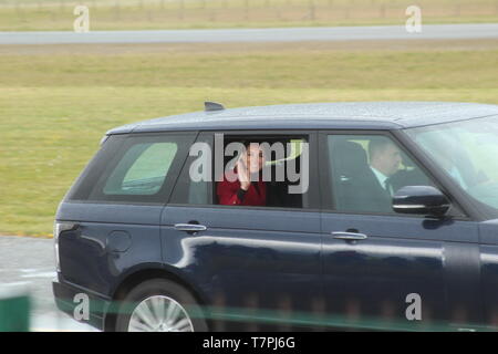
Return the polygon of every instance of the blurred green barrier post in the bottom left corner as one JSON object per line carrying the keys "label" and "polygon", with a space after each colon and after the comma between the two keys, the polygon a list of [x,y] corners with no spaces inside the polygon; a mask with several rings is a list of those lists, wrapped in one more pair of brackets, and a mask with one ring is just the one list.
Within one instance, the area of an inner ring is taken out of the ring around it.
{"label": "blurred green barrier post in the bottom left corner", "polygon": [[0,332],[28,332],[30,308],[25,288],[0,285]]}

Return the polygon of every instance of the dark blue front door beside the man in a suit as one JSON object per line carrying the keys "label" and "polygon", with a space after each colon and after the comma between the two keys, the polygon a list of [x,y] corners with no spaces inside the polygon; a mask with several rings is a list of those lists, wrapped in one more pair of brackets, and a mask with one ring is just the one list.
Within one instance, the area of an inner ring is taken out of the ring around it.
{"label": "dark blue front door beside the man in a suit", "polygon": [[376,191],[367,190],[374,185],[365,176],[374,176],[372,164],[378,158],[372,155],[375,139],[385,139],[398,150],[400,170],[390,177],[394,181],[401,176],[397,188],[443,188],[387,133],[320,134],[329,313],[339,324],[345,321],[371,330],[467,329],[478,323],[483,309],[477,223],[459,211],[455,200],[453,217],[447,219],[388,210],[382,202],[391,196],[377,198]]}

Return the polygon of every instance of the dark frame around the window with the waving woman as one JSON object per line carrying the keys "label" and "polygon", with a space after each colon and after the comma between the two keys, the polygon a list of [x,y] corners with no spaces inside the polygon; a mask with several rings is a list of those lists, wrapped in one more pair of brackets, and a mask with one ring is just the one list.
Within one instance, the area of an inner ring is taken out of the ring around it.
{"label": "dark frame around the window with the waving woman", "polygon": [[[185,202],[172,202],[172,196],[176,192],[176,188],[178,187],[178,181],[176,181],[172,194],[169,196],[167,206],[168,207],[189,207],[189,208],[230,208],[230,209],[237,209],[237,210],[274,210],[274,211],[298,211],[298,212],[319,212],[320,211],[320,184],[319,184],[319,176],[318,174],[312,175],[312,171],[318,169],[318,131],[315,129],[286,129],[286,131],[277,131],[277,129],[227,129],[227,131],[199,131],[199,134],[196,137],[196,142],[200,137],[209,137],[209,140],[211,142],[211,146],[215,144],[215,134],[224,134],[224,136],[229,137],[239,137],[239,136],[253,136],[255,138],[262,137],[262,136],[276,136],[276,137],[286,137],[286,136],[300,136],[300,135],[307,135],[309,137],[309,144],[310,144],[310,176],[309,176],[309,208],[284,208],[284,207],[261,207],[261,206],[225,206],[225,205],[218,205],[214,204],[214,196],[216,195],[216,181],[211,183],[211,204],[185,204]],[[184,163],[184,166],[181,168],[181,171],[178,176],[183,176],[185,173],[185,168],[188,167],[187,160],[189,160],[187,154],[187,159]],[[212,162],[211,162],[212,163]],[[212,168],[211,170],[211,179],[214,179],[215,170]]]}

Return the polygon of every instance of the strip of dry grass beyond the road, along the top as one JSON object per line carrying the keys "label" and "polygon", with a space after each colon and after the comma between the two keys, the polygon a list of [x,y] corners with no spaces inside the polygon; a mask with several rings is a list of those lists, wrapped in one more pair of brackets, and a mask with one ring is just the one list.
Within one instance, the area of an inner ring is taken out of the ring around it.
{"label": "strip of dry grass beyond the road, along the top", "polygon": [[76,4],[91,30],[498,22],[498,0],[0,0],[0,31],[71,31]]}

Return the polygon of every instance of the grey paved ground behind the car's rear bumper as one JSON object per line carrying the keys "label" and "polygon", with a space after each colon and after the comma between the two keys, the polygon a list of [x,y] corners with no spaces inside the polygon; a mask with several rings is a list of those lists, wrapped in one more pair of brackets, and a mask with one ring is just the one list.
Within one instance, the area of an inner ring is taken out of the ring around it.
{"label": "grey paved ground behind the car's rear bumper", "polygon": [[53,254],[50,239],[0,236],[0,290],[29,290],[33,303],[31,331],[96,331],[56,310]]}

